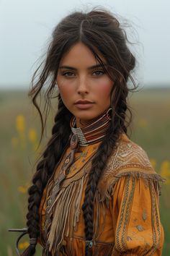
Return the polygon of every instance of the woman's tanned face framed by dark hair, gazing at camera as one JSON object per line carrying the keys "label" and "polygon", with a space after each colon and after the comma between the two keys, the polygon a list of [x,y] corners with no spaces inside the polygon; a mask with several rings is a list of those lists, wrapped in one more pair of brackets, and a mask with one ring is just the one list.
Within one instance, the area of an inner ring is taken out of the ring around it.
{"label": "woman's tanned face framed by dark hair, gazing at camera", "polygon": [[74,45],[61,59],[57,84],[77,127],[88,124],[110,106],[113,82],[83,43]]}

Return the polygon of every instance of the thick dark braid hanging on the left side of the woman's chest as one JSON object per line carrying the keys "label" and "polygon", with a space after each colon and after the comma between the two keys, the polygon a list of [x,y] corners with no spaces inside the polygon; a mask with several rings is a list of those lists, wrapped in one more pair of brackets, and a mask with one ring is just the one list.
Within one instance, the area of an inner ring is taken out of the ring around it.
{"label": "thick dark braid hanging on the left side of the woman's chest", "polygon": [[[28,234],[31,238],[37,239],[40,235],[40,217],[39,207],[42,198],[42,192],[47,184],[50,176],[55,170],[55,165],[58,163],[63,153],[64,148],[68,144],[70,135],[69,122],[71,113],[59,100],[58,113],[55,116],[55,124],[52,129],[52,137],[48,142],[45,152],[42,154],[42,160],[37,164],[37,171],[32,179],[32,186],[28,190],[28,213],[27,227]],[[31,256],[35,254],[35,245],[30,246],[22,253],[22,256]]]}

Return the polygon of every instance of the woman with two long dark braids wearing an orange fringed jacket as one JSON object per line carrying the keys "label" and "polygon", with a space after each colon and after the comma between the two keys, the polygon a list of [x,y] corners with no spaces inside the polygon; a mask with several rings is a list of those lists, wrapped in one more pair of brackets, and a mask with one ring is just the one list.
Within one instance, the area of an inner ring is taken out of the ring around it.
{"label": "woman with two long dark braids wearing an orange fringed jacket", "polygon": [[127,136],[134,67],[109,12],[74,12],[55,27],[30,91],[40,112],[42,88],[48,102],[57,87],[58,112],[29,189],[30,247],[22,255],[34,255],[37,242],[42,255],[161,255],[162,179]]}

